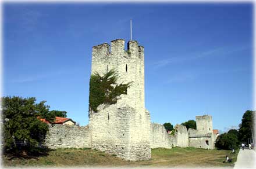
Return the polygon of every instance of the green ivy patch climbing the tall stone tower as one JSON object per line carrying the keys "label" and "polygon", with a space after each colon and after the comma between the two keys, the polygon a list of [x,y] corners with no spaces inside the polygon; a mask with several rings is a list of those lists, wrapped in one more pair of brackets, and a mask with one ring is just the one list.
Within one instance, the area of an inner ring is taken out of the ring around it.
{"label": "green ivy patch climbing the tall stone tower", "polygon": [[130,87],[131,82],[118,84],[117,80],[118,74],[113,69],[103,76],[97,72],[91,75],[89,94],[90,111],[98,112],[97,107],[100,104],[115,104],[121,94],[127,93],[127,88]]}

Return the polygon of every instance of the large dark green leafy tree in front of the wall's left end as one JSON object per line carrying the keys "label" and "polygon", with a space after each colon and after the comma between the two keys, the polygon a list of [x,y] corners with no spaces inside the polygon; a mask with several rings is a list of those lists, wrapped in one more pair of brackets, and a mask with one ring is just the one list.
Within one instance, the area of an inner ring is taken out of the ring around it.
{"label": "large dark green leafy tree in front of the wall's left end", "polygon": [[[43,142],[48,131],[46,123],[38,117],[49,117],[49,106],[35,103],[35,98],[2,97],[3,148],[13,150],[32,150]],[[48,118],[48,120],[51,120]]]}

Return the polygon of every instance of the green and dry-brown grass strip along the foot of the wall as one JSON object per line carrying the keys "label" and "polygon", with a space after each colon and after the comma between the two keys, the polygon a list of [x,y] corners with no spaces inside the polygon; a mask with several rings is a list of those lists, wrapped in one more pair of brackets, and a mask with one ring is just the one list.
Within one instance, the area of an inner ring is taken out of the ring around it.
{"label": "green and dry-brown grass strip along the foot of the wall", "polygon": [[[114,155],[94,149],[56,149],[47,156],[31,159],[2,156],[4,166],[12,167],[225,167],[234,166],[237,153],[230,150],[206,150],[199,148],[152,149],[151,160],[124,161]],[[226,155],[233,163],[223,163]]]}

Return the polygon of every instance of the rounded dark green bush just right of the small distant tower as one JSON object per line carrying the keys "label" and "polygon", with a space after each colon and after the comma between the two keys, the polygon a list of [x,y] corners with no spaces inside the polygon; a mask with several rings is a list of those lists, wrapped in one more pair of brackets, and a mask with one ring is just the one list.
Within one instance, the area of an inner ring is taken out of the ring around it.
{"label": "rounded dark green bush just right of the small distant tower", "polygon": [[237,149],[239,148],[239,140],[232,133],[224,133],[217,137],[215,146],[218,149]]}

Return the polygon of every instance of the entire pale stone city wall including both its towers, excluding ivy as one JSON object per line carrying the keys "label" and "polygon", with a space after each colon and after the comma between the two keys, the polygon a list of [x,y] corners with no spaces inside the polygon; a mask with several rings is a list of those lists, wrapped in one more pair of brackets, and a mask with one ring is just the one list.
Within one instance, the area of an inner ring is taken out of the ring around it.
{"label": "entire pale stone city wall including both its towers, excluding ivy", "polygon": [[129,41],[127,50],[123,39],[93,47],[91,74],[104,75],[111,69],[118,73],[117,84],[130,83],[126,93],[116,104],[101,104],[97,112],[90,109],[86,127],[49,126],[45,139],[49,148],[94,148],[131,161],[150,159],[151,148],[214,148],[211,116],[197,116],[197,130],[188,132],[176,125],[171,135],[161,124],[150,122],[145,108],[144,47],[137,41]]}

